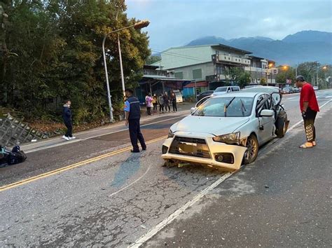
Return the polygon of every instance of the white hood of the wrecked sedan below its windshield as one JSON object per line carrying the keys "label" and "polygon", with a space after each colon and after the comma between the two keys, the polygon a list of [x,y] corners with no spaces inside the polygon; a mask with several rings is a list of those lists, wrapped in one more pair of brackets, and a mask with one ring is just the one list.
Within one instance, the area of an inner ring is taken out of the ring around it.
{"label": "white hood of the wrecked sedan below its windshield", "polygon": [[187,116],[172,125],[172,132],[200,132],[212,135],[226,135],[234,132],[249,117],[208,117],[208,116]]}

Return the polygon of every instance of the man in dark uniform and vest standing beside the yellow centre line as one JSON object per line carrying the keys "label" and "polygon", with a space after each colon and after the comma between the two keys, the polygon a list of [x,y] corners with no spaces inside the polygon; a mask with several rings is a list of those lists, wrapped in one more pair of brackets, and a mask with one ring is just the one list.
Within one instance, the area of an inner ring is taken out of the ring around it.
{"label": "man in dark uniform and vest standing beside the yellow centre line", "polygon": [[132,142],[132,153],[139,153],[139,147],[137,145],[137,139],[141,143],[141,149],[146,150],[146,144],[144,137],[141,134],[141,127],[139,125],[139,119],[141,118],[141,107],[139,106],[139,100],[133,96],[134,92],[130,89],[125,90],[125,125],[129,124],[130,141]]}

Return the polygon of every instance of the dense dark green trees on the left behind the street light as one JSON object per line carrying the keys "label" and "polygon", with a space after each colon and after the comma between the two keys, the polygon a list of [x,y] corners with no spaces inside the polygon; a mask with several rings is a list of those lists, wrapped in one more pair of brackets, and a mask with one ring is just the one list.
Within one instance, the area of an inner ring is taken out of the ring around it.
{"label": "dense dark green trees on the left behind the street light", "polygon": [[[137,21],[127,18],[122,2],[0,1],[1,106],[28,118],[57,118],[64,99],[71,99],[76,123],[107,116],[102,39]],[[135,29],[118,34],[125,85],[135,87],[150,55],[148,36]],[[106,39],[106,57],[117,110],[123,102],[117,34]]]}

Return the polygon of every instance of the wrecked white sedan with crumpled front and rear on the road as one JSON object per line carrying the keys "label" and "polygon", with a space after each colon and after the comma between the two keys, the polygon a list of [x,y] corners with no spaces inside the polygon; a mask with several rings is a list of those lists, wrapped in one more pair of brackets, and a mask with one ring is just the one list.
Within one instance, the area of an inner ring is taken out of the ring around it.
{"label": "wrecked white sedan with crumpled front and rear on the road", "polygon": [[[280,111],[281,95],[277,94],[279,102],[266,92],[236,92],[207,99],[190,116],[172,125],[162,144],[162,158],[166,164],[186,162],[226,170],[254,162],[259,146],[276,133],[282,137],[286,132],[288,120],[286,112]],[[279,113],[284,116],[279,118]]]}

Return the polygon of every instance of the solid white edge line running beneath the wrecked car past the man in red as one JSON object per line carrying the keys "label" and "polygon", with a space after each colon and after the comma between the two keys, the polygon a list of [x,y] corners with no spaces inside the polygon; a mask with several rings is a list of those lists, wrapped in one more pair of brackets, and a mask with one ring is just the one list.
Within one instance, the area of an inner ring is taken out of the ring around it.
{"label": "solid white edge line running beneath the wrecked car past the man in red", "polygon": [[[329,100],[328,102],[324,103],[323,105],[319,106],[319,108],[323,108],[326,104],[328,104],[331,101],[332,101],[332,99]],[[298,123],[295,123],[294,125],[292,125],[291,128],[289,128],[288,132],[293,130],[293,128],[296,128],[296,126],[298,126],[302,122],[303,122],[303,120],[300,120]],[[237,172],[237,171],[235,171],[235,172]],[[175,211],[173,214],[171,214],[166,219],[164,219],[163,221],[158,223],[157,226],[154,226],[153,228],[148,230],[148,232],[146,234],[139,237],[139,239],[136,240],[133,244],[130,244],[129,247],[137,248],[137,247],[140,247],[142,244],[144,244],[146,241],[150,240],[151,237],[156,235],[160,230],[162,230],[162,228],[165,228],[165,226],[167,226],[169,223],[174,221],[174,219],[177,219],[177,217],[180,214],[182,214],[183,212],[185,212],[186,209],[188,209],[188,207],[191,207],[192,205],[194,205],[195,202],[198,202],[198,200],[200,200],[204,195],[209,193],[209,191],[212,191],[212,189],[216,188],[216,186],[219,186],[219,184],[221,184],[223,181],[228,179],[228,177],[230,177],[235,172],[228,172],[228,173],[224,174],[221,178],[216,180],[212,185],[203,189],[200,193],[198,193],[198,195],[195,195],[195,197],[192,200],[188,201],[185,205],[183,205],[182,207],[177,209],[177,211]]]}

